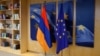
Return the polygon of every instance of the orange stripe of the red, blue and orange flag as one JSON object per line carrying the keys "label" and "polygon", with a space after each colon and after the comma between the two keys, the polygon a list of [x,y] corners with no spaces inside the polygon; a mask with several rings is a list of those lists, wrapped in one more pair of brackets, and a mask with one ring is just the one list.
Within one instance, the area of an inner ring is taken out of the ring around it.
{"label": "orange stripe of the red, blue and orange flag", "polygon": [[43,49],[45,50],[45,52],[47,52],[49,50],[49,47],[48,47],[48,45],[46,43],[44,34],[40,30],[39,27],[38,27],[38,30],[37,30],[37,40],[39,41],[40,45],[43,47]]}

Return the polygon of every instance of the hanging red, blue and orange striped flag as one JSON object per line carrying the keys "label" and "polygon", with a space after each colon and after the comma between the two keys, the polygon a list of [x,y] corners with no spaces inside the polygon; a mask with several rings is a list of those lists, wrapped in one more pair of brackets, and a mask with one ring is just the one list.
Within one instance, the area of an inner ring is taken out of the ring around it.
{"label": "hanging red, blue and orange striped flag", "polygon": [[44,5],[41,8],[40,23],[37,30],[37,40],[43,47],[45,52],[47,52],[52,46],[50,39],[49,22],[47,20],[46,8]]}

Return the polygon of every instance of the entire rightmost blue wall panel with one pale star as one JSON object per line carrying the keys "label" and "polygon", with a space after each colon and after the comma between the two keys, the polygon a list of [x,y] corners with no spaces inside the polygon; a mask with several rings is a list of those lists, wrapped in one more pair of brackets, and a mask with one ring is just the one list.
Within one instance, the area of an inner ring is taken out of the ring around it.
{"label": "entire rightmost blue wall panel with one pale star", "polygon": [[76,44],[94,46],[95,0],[77,0],[76,2]]}

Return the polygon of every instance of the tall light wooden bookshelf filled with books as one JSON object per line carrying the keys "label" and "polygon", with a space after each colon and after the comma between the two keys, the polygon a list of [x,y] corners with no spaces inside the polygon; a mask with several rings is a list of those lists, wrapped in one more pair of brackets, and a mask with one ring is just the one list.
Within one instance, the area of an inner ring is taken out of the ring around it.
{"label": "tall light wooden bookshelf filled with books", "polygon": [[[0,0],[0,50],[15,54],[27,52],[27,35],[24,35],[27,34],[26,2]],[[22,27],[24,24],[26,26]]]}

